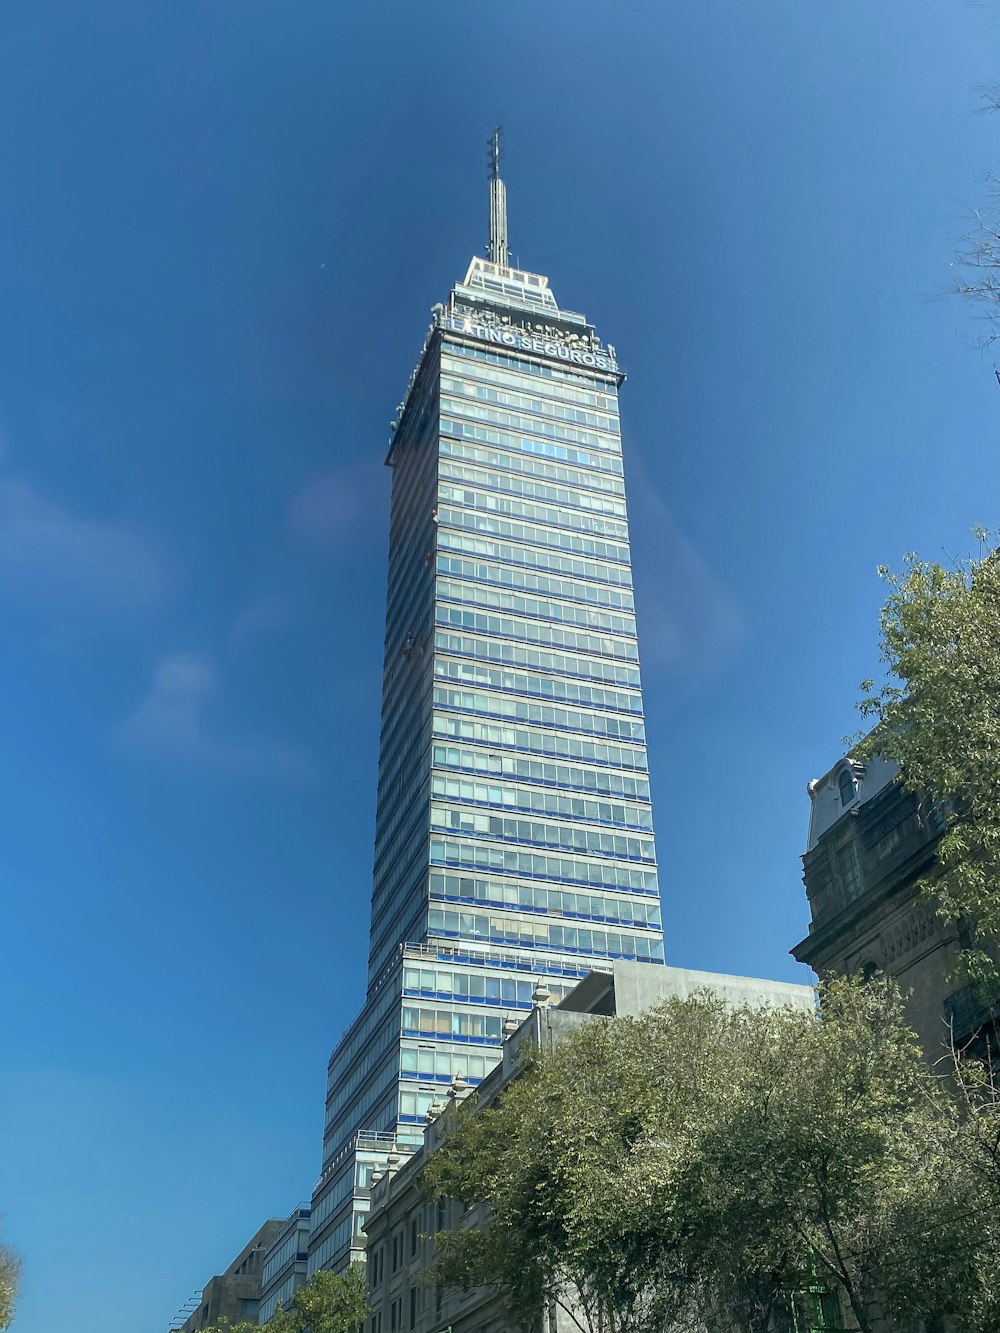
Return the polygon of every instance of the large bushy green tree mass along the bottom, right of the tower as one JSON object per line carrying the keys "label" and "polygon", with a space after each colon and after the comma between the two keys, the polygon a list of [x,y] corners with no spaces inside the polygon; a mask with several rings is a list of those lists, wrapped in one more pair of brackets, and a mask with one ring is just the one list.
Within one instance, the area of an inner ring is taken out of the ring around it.
{"label": "large bushy green tree mass along the bottom, right of the tower", "polygon": [[493,1286],[525,1326],[556,1302],[609,1333],[767,1333],[817,1280],[863,1330],[875,1293],[948,1314],[992,1262],[939,1184],[959,1192],[953,1104],[888,982],[823,1002],[592,1020],[467,1104],[425,1180],[491,1220],[439,1237],[435,1276]]}

